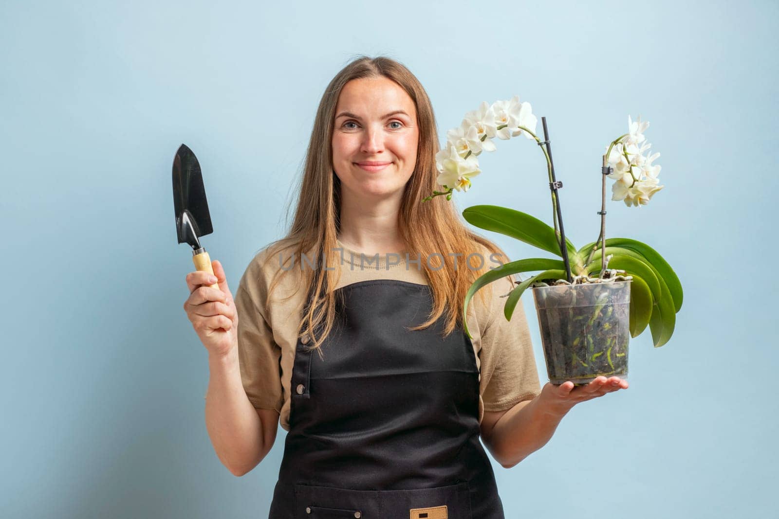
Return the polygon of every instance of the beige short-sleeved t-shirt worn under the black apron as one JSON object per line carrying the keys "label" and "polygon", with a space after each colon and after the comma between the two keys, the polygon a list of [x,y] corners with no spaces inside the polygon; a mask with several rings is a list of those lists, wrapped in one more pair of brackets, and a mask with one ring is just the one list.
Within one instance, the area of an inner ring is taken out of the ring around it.
{"label": "beige short-sleeved t-shirt worn under the black apron", "polygon": [[[336,265],[327,265],[340,270],[337,288],[368,279],[428,284],[423,268],[414,262],[414,255],[407,261],[400,254],[360,254],[345,247],[340,240],[338,247],[344,249],[342,259]],[[301,258],[298,255],[294,268],[280,274],[273,300],[266,308],[267,289],[274,269],[279,270],[281,265],[279,254],[276,258],[268,258],[266,252],[267,248],[259,251],[249,262],[235,290],[238,360],[241,382],[249,402],[258,409],[276,409],[281,426],[289,431],[292,366],[307,290],[300,282]],[[281,252],[285,261],[290,256],[290,251]],[[315,264],[313,256],[309,258]],[[304,268],[312,267],[305,264]],[[503,315],[506,298],[501,295],[509,293],[511,288],[508,278],[499,279],[492,283],[492,299],[488,306],[481,303],[478,294],[468,305],[468,330],[473,336],[471,342],[479,369],[480,423],[485,411],[510,409],[517,402],[534,398],[541,392],[522,304],[516,306],[511,321]]]}

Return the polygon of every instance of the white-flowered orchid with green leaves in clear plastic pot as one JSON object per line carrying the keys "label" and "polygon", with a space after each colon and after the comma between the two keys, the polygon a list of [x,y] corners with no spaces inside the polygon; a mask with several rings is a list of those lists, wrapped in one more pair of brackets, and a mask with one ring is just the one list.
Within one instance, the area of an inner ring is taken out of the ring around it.
{"label": "white-flowered orchid with green leaves in clear plastic pot", "polygon": [[[516,281],[506,294],[504,314],[510,320],[520,296],[530,288],[541,327],[547,372],[552,384],[572,380],[583,385],[598,376],[627,375],[629,338],[650,328],[654,346],[664,345],[675,327],[675,314],[682,307],[682,285],[675,272],[652,247],[629,238],[605,237],[606,177],[612,184],[612,200],[628,207],[647,205],[664,186],[653,165],[659,153],[649,155],[650,144],[643,132],[649,126],[641,117],[628,116],[628,132],[609,142],[601,161],[601,232],[597,240],[576,248],[565,236],[559,189],[555,179],[548,128],[542,117],[545,140],[535,133],[537,118],[530,103],[519,97],[484,102],[468,112],[462,124],[446,133],[447,142],[436,155],[437,182],[443,191],[425,198],[467,191],[471,179],[481,173],[477,156],[495,151],[492,139],[507,140],[524,135],[544,153],[552,195],[553,227],[524,212],[497,205],[474,205],[463,211],[467,222],[481,229],[516,238],[558,258],[527,258],[510,261],[481,275],[471,285],[464,303],[488,283],[506,275],[539,272]],[[464,319],[465,323],[465,319]],[[471,337],[465,324],[465,331]]]}

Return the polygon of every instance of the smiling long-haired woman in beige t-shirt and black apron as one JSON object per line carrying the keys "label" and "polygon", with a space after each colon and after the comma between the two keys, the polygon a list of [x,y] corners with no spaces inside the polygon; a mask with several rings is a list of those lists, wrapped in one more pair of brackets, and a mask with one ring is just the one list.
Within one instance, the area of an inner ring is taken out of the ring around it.
{"label": "smiling long-haired woman in beige t-shirt and black apron", "polygon": [[541,388],[521,305],[502,315],[509,278],[477,294],[464,334],[468,287],[507,258],[452,202],[421,202],[438,142],[407,68],[352,61],[319,103],[287,237],[234,300],[219,261],[218,290],[187,275],[220,460],[243,475],[287,430],[270,517],[504,517],[480,437],[512,467],[573,405],[627,387]]}

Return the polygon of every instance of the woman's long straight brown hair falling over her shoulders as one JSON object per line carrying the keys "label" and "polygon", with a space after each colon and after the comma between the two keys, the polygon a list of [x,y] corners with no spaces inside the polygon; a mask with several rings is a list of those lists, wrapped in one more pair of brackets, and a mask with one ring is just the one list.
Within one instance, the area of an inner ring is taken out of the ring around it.
{"label": "woman's long straight brown hair falling over her shoulders", "polygon": [[[495,258],[489,254],[498,254],[505,263],[508,258],[502,249],[485,237],[471,232],[456,212],[453,202],[446,197],[435,197],[428,202],[422,198],[438,188],[435,178],[435,154],[439,151],[438,132],[435,115],[428,94],[419,80],[404,65],[391,58],[379,56],[369,58],[359,56],[346,65],[325,89],[319,108],[316,110],[311,139],[305,158],[303,176],[299,184],[297,209],[294,221],[287,236],[276,240],[267,247],[267,261],[275,258],[284,249],[290,252],[290,260],[308,257],[323,258],[326,265],[337,265],[337,237],[340,230],[340,180],[333,171],[333,125],[335,110],[341,89],[352,79],[375,78],[383,76],[396,82],[411,96],[417,109],[419,142],[414,173],[404,189],[403,201],[398,215],[400,235],[412,251],[413,258],[420,254],[421,269],[428,279],[431,289],[433,308],[428,321],[410,330],[427,328],[446,313],[444,334],[449,335],[456,326],[462,325],[463,303],[471,283],[487,271],[488,261],[476,269],[464,268],[468,254],[482,254],[482,258]],[[439,253],[439,254],[434,254]],[[449,253],[461,253],[453,258]],[[426,258],[430,258],[428,261]],[[454,261],[459,260],[457,268]],[[441,267],[441,263],[443,266]],[[284,261],[287,263],[287,261]],[[302,263],[302,262],[301,262]],[[294,263],[293,263],[294,265]],[[302,266],[302,265],[301,265]],[[297,268],[284,267],[273,275],[268,289],[266,307],[270,305],[273,287],[279,281],[278,276],[291,274]],[[325,268],[301,268],[308,272],[301,278],[301,284],[308,287],[308,296],[299,334],[308,334],[312,338],[309,347],[319,348],[324,338],[333,329],[336,317],[336,292],[338,279]],[[297,272],[294,272],[297,273]],[[481,303],[492,290],[486,286],[478,292]],[[486,293],[486,294],[485,294]],[[319,331],[319,333],[316,333]]]}

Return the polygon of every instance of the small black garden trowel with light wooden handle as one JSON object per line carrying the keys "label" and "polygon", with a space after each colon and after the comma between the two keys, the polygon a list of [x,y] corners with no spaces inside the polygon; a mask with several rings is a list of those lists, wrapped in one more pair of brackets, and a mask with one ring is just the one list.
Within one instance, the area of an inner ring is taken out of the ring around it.
{"label": "small black garden trowel with light wooden handle", "polygon": [[[192,261],[196,270],[213,275],[211,258],[198,239],[213,233],[206,189],[203,188],[203,174],[195,153],[185,144],[178,148],[173,159],[173,206],[178,243],[192,246]],[[214,283],[210,287],[218,289],[219,285]]]}

